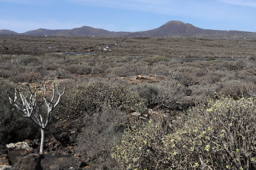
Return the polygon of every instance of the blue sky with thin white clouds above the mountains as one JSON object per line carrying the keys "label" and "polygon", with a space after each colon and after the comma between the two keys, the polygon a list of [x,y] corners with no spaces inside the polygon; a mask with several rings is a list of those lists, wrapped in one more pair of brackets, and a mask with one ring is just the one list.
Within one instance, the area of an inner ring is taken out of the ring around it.
{"label": "blue sky with thin white clouds above the mountains", "polygon": [[145,31],[170,20],[256,32],[256,0],[0,0],[0,29]]}

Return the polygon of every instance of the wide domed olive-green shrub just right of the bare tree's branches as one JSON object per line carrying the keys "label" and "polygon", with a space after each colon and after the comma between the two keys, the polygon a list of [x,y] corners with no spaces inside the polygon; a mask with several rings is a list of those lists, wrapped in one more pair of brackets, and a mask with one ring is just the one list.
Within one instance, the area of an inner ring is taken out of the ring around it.
{"label": "wide domed olive-green shrub just right of the bare tree's branches", "polygon": [[138,93],[124,85],[113,86],[106,81],[92,81],[87,85],[81,83],[70,90],[67,96],[67,101],[58,112],[70,117],[106,106],[132,111],[145,109],[145,101]]}

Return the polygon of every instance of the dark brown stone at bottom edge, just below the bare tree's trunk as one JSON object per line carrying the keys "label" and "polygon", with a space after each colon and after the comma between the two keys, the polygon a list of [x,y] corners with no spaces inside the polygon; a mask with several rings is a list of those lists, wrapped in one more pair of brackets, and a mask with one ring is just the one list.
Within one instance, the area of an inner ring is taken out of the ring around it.
{"label": "dark brown stone at bottom edge, just below the bare tree's trunk", "polygon": [[44,159],[44,155],[37,153],[31,153],[25,157],[19,157],[14,167],[26,170],[42,170],[41,160]]}

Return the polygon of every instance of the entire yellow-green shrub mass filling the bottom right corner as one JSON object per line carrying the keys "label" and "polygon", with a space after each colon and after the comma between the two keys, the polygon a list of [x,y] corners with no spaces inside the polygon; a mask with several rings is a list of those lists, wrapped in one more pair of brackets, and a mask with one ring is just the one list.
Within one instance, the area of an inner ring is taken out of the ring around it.
{"label": "entire yellow-green shrub mass filling the bottom right corner", "polygon": [[255,169],[255,99],[206,103],[169,120],[169,128],[134,125],[113,157],[125,169]]}

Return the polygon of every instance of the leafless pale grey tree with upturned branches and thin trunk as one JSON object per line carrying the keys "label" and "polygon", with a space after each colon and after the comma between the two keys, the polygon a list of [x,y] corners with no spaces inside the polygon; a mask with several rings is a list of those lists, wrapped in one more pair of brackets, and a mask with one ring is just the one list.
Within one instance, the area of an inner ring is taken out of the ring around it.
{"label": "leafless pale grey tree with upturned branches and thin trunk", "polygon": [[[52,97],[51,100],[47,99],[46,92],[47,88],[44,87],[43,92],[43,99],[41,102],[36,101],[36,91],[32,92],[31,88],[29,88],[30,97],[24,96],[23,92],[20,91],[18,88],[15,89],[15,97],[12,99],[10,93],[8,93],[8,97],[10,99],[10,103],[14,106],[13,111],[19,114],[21,117],[30,118],[37,127],[41,129],[41,145],[40,145],[40,154],[44,151],[44,135],[45,135],[45,128],[52,120],[52,111],[54,108],[60,103],[60,98],[65,94],[65,88],[62,93],[58,90],[58,85],[55,87],[55,83],[52,83]],[[58,99],[54,102],[55,97],[55,89],[57,89]],[[18,101],[18,96],[20,96],[20,101]],[[42,111],[43,105],[47,106],[47,111]]]}

